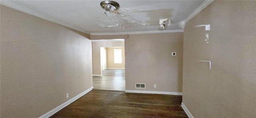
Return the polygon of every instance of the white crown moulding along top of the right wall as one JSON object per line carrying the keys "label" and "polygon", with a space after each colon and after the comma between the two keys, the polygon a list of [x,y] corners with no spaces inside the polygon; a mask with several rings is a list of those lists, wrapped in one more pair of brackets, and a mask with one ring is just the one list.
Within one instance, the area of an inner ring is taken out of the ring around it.
{"label": "white crown moulding along top of the right wall", "polygon": [[199,12],[201,12],[204,8],[206,8],[206,6],[208,6],[210,3],[212,3],[214,0],[205,0],[200,6],[198,6],[198,8],[196,8],[196,10],[194,10],[194,12],[192,12],[187,18],[185,18],[183,21],[185,22],[185,24],[191,20],[192,18],[194,18]]}

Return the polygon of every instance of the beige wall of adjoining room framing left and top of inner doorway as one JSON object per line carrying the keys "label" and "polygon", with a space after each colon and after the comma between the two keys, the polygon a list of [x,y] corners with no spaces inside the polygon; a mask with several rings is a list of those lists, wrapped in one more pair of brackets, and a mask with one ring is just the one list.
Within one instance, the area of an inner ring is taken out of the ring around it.
{"label": "beige wall of adjoining room framing left and top of inner doorway", "polygon": [[100,65],[100,47],[124,47],[122,41],[97,41],[92,42],[92,73],[94,75],[102,75],[102,67]]}

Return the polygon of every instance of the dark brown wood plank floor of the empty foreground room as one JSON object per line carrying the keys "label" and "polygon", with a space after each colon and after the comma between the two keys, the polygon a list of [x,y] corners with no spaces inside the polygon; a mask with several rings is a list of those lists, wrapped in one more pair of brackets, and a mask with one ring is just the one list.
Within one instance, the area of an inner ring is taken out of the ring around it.
{"label": "dark brown wood plank floor of the empty foreground room", "polygon": [[50,118],[188,118],[182,96],[92,90]]}

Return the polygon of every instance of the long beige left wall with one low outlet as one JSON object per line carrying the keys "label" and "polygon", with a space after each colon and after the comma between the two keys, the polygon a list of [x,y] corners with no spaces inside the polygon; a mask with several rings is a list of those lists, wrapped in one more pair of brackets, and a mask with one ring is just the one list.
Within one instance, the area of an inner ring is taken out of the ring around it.
{"label": "long beige left wall with one low outlet", "polygon": [[1,118],[38,118],[92,87],[88,35],[6,6],[0,13]]}

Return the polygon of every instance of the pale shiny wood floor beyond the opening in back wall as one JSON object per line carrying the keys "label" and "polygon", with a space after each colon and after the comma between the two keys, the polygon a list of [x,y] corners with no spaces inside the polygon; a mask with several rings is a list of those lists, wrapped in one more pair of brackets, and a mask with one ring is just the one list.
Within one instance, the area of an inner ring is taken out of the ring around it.
{"label": "pale shiny wood floor beyond the opening in back wall", "polygon": [[125,90],[125,70],[106,69],[103,76],[93,76],[93,87],[95,90]]}

